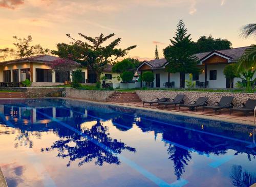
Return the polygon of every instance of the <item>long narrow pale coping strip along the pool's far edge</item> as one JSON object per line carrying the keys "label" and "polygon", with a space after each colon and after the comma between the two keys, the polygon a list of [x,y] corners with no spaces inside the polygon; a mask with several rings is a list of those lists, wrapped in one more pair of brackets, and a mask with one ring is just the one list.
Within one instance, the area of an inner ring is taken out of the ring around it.
{"label": "long narrow pale coping strip along the pool's far edge", "polygon": [[253,122],[230,119],[230,118],[220,118],[220,117],[216,117],[216,116],[200,115],[200,114],[194,114],[194,113],[183,113],[183,112],[177,112],[177,111],[171,111],[171,110],[159,110],[159,109],[154,109],[154,108],[145,108],[145,107],[140,107],[140,106],[130,106],[130,105],[111,103],[111,102],[99,102],[99,101],[91,101],[91,100],[76,99],[76,98],[60,98],[60,99],[84,101],[84,102],[97,103],[97,104],[102,104],[102,105],[120,106],[120,107],[133,108],[133,109],[139,109],[139,110],[153,111],[153,112],[158,112],[158,113],[174,114],[174,115],[179,115],[179,116],[187,116],[187,117],[191,117],[191,118],[200,118],[200,119],[204,119],[204,120],[215,120],[215,121],[220,121],[220,122],[235,123],[238,125],[246,125],[246,126],[256,127],[256,125],[253,124]]}

